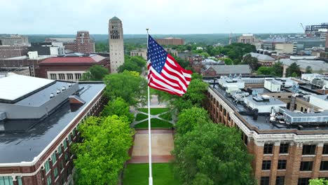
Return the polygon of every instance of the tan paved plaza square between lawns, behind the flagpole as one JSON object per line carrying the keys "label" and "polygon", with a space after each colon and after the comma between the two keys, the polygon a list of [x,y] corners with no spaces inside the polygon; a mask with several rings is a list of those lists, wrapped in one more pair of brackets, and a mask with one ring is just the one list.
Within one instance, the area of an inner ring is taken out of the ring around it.
{"label": "tan paved plaza square between lawns, behind the flagpole", "polygon": [[[137,130],[135,145],[128,163],[148,163],[148,130]],[[173,159],[174,148],[172,130],[151,130],[152,163],[169,163]]]}

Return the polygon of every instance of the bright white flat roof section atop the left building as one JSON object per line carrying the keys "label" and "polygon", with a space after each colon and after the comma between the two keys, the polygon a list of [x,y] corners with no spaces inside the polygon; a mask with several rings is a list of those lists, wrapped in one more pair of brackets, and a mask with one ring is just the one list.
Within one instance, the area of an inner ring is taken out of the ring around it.
{"label": "bright white flat roof section atop the left building", "polygon": [[16,100],[44,85],[53,83],[53,80],[13,74],[0,78],[0,99]]}

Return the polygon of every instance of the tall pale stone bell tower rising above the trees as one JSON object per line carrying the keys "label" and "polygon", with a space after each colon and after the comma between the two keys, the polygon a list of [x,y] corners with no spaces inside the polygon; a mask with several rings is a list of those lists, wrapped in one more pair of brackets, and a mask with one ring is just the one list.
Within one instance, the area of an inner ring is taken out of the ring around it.
{"label": "tall pale stone bell tower rising above the trees", "polygon": [[109,20],[108,33],[111,73],[117,73],[118,67],[124,63],[124,46],[122,21],[116,16]]}

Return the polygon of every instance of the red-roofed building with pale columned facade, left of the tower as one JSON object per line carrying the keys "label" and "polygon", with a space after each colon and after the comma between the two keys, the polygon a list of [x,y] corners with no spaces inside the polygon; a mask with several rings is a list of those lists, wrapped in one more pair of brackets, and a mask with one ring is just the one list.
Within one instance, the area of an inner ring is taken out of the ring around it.
{"label": "red-roofed building with pale columned facade, left of the tower", "polygon": [[50,57],[39,63],[38,77],[78,81],[93,65],[101,65],[109,69],[109,61],[100,55],[74,53],[64,57]]}

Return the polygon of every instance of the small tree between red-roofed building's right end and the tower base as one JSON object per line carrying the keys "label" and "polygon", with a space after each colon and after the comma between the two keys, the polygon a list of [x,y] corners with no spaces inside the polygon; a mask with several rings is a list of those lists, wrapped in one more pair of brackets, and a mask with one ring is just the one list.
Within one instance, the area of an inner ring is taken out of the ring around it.
{"label": "small tree between red-roofed building's right end and the tower base", "polygon": [[107,68],[100,65],[93,65],[82,75],[81,81],[102,81],[102,78],[109,74]]}

